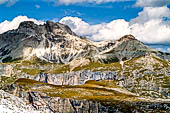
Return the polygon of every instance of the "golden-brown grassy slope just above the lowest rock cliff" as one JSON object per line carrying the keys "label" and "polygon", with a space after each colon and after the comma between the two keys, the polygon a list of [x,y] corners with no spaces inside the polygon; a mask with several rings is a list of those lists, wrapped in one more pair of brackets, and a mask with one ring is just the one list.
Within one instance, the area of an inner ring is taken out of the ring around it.
{"label": "golden-brown grassy slope just above the lowest rock cliff", "polygon": [[84,85],[52,85],[30,79],[18,79],[16,84],[25,91],[46,93],[50,97],[88,99],[95,101],[137,101],[135,94],[115,84],[114,81],[87,81]]}

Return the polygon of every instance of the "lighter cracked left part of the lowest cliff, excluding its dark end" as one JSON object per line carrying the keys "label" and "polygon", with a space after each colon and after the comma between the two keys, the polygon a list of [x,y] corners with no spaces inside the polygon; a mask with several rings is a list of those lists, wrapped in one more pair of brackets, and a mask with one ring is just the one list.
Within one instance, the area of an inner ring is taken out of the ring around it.
{"label": "lighter cracked left part of the lowest cliff, excluding its dark end", "polygon": [[36,109],[52,113],[106,113],[109,110],[97,102],[59,97],[51,98],[37,92],[29,92],[29,100]]}

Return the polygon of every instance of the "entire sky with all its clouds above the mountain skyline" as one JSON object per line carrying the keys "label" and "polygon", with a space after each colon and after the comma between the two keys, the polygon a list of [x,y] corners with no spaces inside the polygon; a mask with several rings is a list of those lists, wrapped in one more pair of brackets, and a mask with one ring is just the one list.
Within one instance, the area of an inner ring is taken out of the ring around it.
{"label": "entire sky with all its clouds above the mountain skyline", "polygon": [[0,0],[0,33],[33,19],[67,24],[91,40],[126,34],[170,52],[170,0]]}

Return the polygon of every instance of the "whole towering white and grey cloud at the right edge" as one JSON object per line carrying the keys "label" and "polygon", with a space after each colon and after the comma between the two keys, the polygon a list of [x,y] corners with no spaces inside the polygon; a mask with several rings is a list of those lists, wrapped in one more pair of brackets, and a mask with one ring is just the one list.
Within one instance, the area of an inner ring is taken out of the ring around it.
{"label": "whole towering white and grey cloud at the right edge", "polygon": [[164,22],[163,17],[170,17],[166,6],[145,7],[130,21],[131,34],[146,43],[170,43],[170,24]]}

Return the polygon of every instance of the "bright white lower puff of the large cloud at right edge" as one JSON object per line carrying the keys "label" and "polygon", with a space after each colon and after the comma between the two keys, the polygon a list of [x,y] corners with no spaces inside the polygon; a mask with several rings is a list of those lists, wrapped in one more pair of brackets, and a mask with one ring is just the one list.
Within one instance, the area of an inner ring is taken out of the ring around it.
{"label": "bright white lower puff of the large cloud at right edge", "polygon": [[131,34],[146,43],[170,43],[170,26],[160,20],[150,20],[144,24],[134,24]]}

